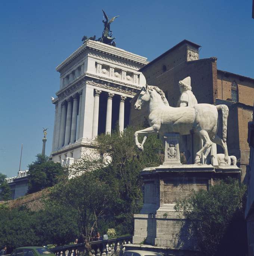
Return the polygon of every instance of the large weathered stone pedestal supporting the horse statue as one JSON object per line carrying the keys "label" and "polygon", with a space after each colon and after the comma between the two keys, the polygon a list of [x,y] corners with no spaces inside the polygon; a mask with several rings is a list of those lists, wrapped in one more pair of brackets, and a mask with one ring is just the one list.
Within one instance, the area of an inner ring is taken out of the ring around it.
{"label": "large weathered stone pedestal supporting the horse statue", "polygon": [[140,213],[134,214],[133,245],[130,246],[135,249],[137,244],[144,243],[143,250],[149,250],[151,246],[151,250],[163,247],[167,248],[167,254],[188,250],[189,253],[184,255],[195,255],[195,241],[190,241],[187,225],[183,226],[186,224],[183,216],[174,210],[176,199],[183,199],[199,189],[208,190],[228,176],[240,179],[241,169],[236,166],[215,168],[212,165],[180,164],[177,136],[165,135],[165,162],[162,165],[141,171],[144,204]]}

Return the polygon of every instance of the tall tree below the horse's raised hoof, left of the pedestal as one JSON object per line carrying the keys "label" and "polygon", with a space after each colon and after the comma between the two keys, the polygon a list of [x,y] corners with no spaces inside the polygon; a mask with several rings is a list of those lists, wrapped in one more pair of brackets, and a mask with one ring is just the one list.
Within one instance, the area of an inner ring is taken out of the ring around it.
{"label": "tall tree below the horse's raised hoof, left of the pedestal", "polygon": [[[142,152],[134,143],[137,129],[127,127],[121,134],[116,130],[111,135],[99,135],[94,154],[84,155],[80,162],[69,168],[72,176],[92,170],[100,182],[110,187],[112,200],[98,220],[100,230],[116,228],[117,234],[133,232],[133,213],[139,211],[143,202],[140,171],[161,164],[162,143],[159,138],[149,136]],[[140,199],[139,205],[136,205],[136,199]]]}

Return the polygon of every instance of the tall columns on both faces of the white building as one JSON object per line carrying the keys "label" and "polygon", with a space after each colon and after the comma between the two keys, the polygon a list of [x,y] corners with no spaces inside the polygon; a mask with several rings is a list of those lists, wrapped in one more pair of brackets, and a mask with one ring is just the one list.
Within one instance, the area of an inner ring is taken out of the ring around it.
{"label": "tall columns on both faces of the white building", "polygon": [[[99,100],[101,90],[95,89],[93,101],[93,127],[92,127],[92,138],[98,135],[99,125]],[[107,110],[106,110],[106,126],[105,132],[111,133],[111,122],[112,122],[112,99],[114,93],[107,92]],[[119,131],[124,130],[124,101],[126,96],[120,95],[119,104]],[[61,103],[61,122],[55,132],[55,149],[67,146],[70,143],[74,143],[80,138],[80,114],[82,109],[82,91],[72,95],[67,100]],[[91,106],[92,107],[92,106]],[[82,137],[82,136],[81,136]]]}

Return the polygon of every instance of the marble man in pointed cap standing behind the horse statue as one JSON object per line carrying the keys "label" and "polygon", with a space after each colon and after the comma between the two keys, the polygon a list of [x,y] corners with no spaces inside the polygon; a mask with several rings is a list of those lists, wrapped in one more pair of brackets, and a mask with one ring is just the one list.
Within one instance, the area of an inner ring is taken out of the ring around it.
{"label": "marble man in pointed cap standing behind the horse statue", "polygon": [[[177,107],[189,107],[198,104],[196,97],[191,91],[190,76],[178,82],[180,98]],[[196,153],[202,148],[202,142],[196,133],[181,136],[183,152],[185,153],[187,164],[193,164]]]}

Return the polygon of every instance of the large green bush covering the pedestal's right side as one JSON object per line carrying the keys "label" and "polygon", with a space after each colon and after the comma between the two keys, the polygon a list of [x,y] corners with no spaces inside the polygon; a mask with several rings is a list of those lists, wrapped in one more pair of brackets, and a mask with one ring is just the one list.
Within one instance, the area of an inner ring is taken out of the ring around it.
{"label": "large green bush covering the pedestal's right side", "polygon": [[175,209],[187,219],[190,237],[203,255],[245,255],[245,191],[246,186],[228,179],[177,201]]}

